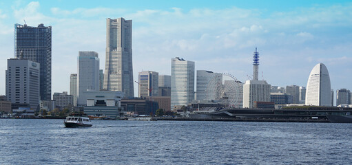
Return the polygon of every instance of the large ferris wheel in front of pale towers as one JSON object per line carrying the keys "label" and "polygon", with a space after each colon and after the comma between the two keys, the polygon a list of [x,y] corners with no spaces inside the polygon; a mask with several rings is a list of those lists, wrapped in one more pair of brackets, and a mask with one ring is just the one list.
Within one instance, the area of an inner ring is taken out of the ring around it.
{"label": "large ferris wheel in front of pale towers", "polygon": [[231,74],[218,74],[207,83],[207,100],[219,100],[228,107],[242,108],[242,97],[243,84]]}

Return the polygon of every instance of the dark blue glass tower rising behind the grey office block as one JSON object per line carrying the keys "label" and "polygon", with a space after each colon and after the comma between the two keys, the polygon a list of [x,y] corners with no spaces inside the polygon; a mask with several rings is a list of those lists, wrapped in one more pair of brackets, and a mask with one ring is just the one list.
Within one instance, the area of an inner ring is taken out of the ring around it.
{"label": "dark blue glass tower rising behind the grey office block", "polygon": [[40,100],[50,100],[52,95],[52,27],[14,25],[14,54],[17,58],[37,62],[40,68]]}

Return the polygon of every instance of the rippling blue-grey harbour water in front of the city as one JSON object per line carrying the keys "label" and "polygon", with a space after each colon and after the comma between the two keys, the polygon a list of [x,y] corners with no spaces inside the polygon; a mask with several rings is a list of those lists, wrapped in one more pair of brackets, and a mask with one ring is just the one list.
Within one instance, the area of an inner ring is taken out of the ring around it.
{"label": "rippling blue-grey harbour water in front of the city", "polygon": [[352,124],[1,119],[0,164],[352,164]]}

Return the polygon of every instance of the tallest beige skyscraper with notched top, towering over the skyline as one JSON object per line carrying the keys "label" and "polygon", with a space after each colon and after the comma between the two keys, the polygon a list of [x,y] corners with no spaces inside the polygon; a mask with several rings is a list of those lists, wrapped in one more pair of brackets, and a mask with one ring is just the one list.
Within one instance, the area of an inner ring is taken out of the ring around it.
{"label": "tallest beige skyscraper with notched top, towering over the skyline", "polygon": [[132,20],[106,19],[104,89],[134,97],[132,67]]}

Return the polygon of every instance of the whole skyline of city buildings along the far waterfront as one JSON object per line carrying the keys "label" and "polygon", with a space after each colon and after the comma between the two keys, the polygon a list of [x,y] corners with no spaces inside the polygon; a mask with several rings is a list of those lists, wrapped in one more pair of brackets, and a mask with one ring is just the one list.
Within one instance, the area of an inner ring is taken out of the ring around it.
{"label": "whole skyline of city buildings along the far waterfront", "polygon": [[[70,94],[52,94],[52,27],[15,24],[14,57],[8,59],[6,96],[0,112],[43,113],[54,109],[84,111],[87,115],[116,118],[121,115],[165,111],[215,111],[225,108],[272,109],[293,105],[333,106],[327,67],[318,63],[307,86],[271,86],[258,80],[259,52],[253,52],[253,78],[242,83],[227,73],[195,70],[195,62],[171,58],[171,75],[141,71],[133,80],[132,20],[106,19],[105,70],[99,54],[78,51],[76,73],[70,74]],[[134,97],[138,85],[138,98]],[[351,106],[351,91],[336,91],[336,106]],[[28,114],[30,114],[28,113]]]}

